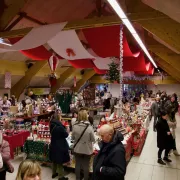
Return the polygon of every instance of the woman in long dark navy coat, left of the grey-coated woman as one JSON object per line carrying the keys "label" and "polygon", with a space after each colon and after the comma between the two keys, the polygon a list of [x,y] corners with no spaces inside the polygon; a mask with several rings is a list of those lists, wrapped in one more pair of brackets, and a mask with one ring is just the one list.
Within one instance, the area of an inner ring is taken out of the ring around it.
{"label": "woman in long dark navy coat, left of the grey-coated woman", "polygon": [[49,158],[53,162],[52,178],[59,176],[59,180],[67,180],[64,177],[63,164],[70,161],[69,145],[66,141],[68,133],[61,123],[60,112],[55,112],[50,121],[51,144]]}

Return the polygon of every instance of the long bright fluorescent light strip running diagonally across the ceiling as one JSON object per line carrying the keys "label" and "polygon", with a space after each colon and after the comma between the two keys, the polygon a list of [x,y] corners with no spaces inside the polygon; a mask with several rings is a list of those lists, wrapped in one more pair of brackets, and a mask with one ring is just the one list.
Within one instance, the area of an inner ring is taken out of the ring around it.
{"label": "long bright fluorescent light strip running diagonally across the ceiling", "polygon": [[137,34],[136,30],[134,29],[133,25],[131,24],[131,22],[128,20],[126,14],[124,13],[124,11],[122,10],[121,6],[119,5],[119,3],[116,0],[107,0],[109,2],[109,4],[112,6],[112,8],[114,9],[114,11],[117,13],[117,15],[121,18],[122,22],[125,24],[125,26],[128,28],[128,30],[131,32],[131,34],[133,35],[134,39],[137,41],[137,43],[139,44],[139,46],[142,48],[142,50],[144,51],[144,53],[146,54],[146,56],[149,58],[149,60],[152,62],[152,64],[154,65],[155,68],[157,68],[156,63],[154,62],[153,58],[151,57],[151,55],[149,54],[146,46],[144,45],[144,43],[142,42],[141,38],[139,37],[139,35]]}

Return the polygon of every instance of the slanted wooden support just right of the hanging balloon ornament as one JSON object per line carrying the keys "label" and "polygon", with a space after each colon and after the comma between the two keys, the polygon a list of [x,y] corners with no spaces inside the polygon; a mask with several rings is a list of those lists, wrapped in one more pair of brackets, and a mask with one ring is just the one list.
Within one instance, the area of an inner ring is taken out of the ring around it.
{"label": "slanted wooden support just right of the hanging balloon ornament", "polygon": [[56,86],[51,88],[51,92],[55,93],[64,83],[64,81],[69,78],[73,73],[76,72],[76,69],[73,67],[69,67],[66,71],[64,71],[61,75],[60,78],[57,80]]}

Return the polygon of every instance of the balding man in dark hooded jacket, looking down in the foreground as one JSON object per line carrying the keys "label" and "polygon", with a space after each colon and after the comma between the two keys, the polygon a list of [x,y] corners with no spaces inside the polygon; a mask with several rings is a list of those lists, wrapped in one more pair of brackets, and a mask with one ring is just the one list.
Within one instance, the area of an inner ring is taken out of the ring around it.
{"label": "balding man in dark hooded jacket, looking down in the foreground", "polygon": [[94,158],[93,180],[124,180],[126,174],[123,135],[109,125],[100,128],[102,142],[100,151]]}

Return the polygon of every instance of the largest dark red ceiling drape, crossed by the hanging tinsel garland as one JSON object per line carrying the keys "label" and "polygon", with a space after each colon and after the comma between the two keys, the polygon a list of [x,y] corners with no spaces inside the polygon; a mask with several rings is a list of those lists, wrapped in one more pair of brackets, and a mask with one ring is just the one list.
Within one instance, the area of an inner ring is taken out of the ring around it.
{"label": "largest dark red ceiling drape, crossed by the hanging tinsel garland", "polygon": [[[88,28],[82,30],[93,51],[100,57],[119,57],[119,33],[120,26],[107,26],[99,28]],[[124,56],[135,57],[139,52],[133,54],[129,48],[126,36],[123,38]]]}

